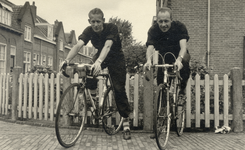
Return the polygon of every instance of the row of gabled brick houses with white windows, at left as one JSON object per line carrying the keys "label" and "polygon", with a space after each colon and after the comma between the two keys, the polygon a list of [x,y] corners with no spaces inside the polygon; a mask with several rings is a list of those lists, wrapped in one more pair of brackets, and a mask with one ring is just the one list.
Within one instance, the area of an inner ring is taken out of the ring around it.
{"label": "row of gabled brick houses with white windows, at left", "polygon": [[[50,66],[58,71],[72,46],[77,43],[75,31],[64,32],[63,23],[48,23],[36,14],[35,2],[17,6],[8,0],[0,0],[0,72],[9,73],[14,66],[28,72],[35,65]],[[84,47],[75,62],[89,62],[90,53]]]}

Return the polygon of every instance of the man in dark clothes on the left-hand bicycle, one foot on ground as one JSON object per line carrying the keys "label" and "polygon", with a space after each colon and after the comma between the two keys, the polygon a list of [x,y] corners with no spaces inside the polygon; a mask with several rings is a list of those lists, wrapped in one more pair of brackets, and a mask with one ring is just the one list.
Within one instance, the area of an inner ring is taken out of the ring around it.
{"label": "man in dark clothes on the left-hand bicycle, one foot on ground", "polygon": [[[79,50],[91,41],[98,50],[93,57],[93,75],[98,75],[101,69],[108,67],[115,90],[116,105],[120,115],[124,118],[123,138],[125,140],[131,139],[128,120],[131,109],[125,90],[126,67],[118,28],[112,23],[105,23],[104,14],[99,8],[92,9],[88,16],[91,26],[88,26],[78,37],[78,43],[68,53],[63,64],[69,63]],[[93,97],[96,97],[97,82],[96,79],[87,79],[86,87],[90,89]]]}

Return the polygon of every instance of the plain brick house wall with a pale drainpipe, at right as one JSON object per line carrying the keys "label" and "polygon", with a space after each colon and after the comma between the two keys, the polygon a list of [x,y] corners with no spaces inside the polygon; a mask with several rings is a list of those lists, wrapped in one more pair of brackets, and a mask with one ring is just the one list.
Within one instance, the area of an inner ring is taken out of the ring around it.
{"label": "plain brick house wall with a pale drainpipe, at right", "polygon": [[161,3],[186,25],[192,60],[206,63],[219,76],[245,67],[244,0],[156,0],[157,9]]}

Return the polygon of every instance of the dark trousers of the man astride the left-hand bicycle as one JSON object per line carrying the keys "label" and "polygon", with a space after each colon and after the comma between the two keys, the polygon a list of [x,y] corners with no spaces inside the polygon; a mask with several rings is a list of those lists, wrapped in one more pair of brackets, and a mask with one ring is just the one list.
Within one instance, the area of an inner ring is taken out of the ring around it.
{"label": "dark trousers of the man astride the left-hand bicycle", "polygon": [[[98,58],[98,55],[95,55],[93,61]],[[115,92],[115,101],[119,111],[119,114],[127,118],[131,112],[130,105],[128,103],[128,98],[125,89],[126,82],[126,66],[124,55],[121,54],[115,59],[109,61],[104,61],[101,64],[101,68],[104,69],[108,67],[109,74],[111,76],[112,85]],[[91,90],[97,88],[97,79],[87,79],[86,87]]]}

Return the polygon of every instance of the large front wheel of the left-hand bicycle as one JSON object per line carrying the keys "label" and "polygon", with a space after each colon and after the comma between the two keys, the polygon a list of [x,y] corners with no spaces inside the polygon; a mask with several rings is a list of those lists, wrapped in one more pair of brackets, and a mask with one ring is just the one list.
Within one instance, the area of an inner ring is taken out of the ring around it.
{"label": "large front wheel of the left-hand bicycle", "polygon": [[84,128],[87,116],[85,89],[70,85],[61,96],[55,119],[57,139],[65,148],[73,146]]}

